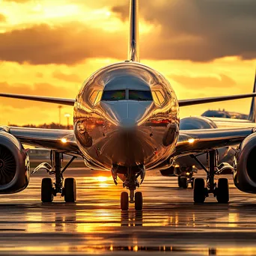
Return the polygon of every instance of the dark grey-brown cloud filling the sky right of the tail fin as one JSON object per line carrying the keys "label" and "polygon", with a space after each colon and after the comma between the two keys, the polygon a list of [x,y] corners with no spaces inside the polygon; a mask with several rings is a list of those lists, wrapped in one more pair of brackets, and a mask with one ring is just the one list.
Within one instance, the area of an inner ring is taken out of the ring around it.
{"label": "dark grey-brown cloud filling the sky right of the tail fin", "polygon": [[[141,43],[149,59],[212,61],[225,56],[256,58],[255,0],[141,0],[141,16],[161,31]],[[122,20],[129,2],[112,7]]]}

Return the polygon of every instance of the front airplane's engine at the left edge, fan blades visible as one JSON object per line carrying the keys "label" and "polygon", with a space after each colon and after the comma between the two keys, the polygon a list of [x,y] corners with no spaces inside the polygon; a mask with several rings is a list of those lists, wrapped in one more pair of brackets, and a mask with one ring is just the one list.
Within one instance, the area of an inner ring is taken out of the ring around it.
{"label": "front airplane's engine at the left edge, fan blades visible", "polygon": [[0,129],[0,194],[12,194],[28,186],[30,162],[17,138]]}

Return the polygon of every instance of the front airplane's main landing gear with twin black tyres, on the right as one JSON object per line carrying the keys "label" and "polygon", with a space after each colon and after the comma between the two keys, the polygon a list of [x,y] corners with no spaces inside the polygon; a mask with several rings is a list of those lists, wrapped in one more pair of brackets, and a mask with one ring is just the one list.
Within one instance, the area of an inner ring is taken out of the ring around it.
{"label": "front airplane's main landing gear with twin black tyres, on the right", "polygon": [[222,166],[222,164],[217,166],[218,157],[216,150],[211,150],[208,153],[208,169],[198,160],[197,156],[191,155],[191,157],[194,158],[207,173],[206,183],[203,178],[196,178],[194,180],[194,202],[204,203],[205,198],[207,198],[209,194],[212,193],[219,203],[227,204],[229,201],[228,179],[220,178],[218,183],[215,183],[214,180],[214,176],[216,174],[221,174],[222,172],[222,168],[219,168]]}

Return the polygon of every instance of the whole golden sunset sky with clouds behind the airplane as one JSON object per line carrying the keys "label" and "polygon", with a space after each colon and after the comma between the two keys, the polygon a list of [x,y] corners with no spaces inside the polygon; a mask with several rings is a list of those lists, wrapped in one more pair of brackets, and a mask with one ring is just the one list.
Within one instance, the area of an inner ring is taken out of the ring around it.
{"label": "whole golden sunset sky with clouds behind the airplane", "polygon": [[[140,0],[141,62],[179,100],[252,91],[255,0]],[[0,0],[0,91],[75,98],[100,67],[127,58],[129,0]],[[180,109],[248,113],[251,100]],[[58,106],[1,98],[0,124],[58,122]],[[64,106],[64,114],[73,108]]]}

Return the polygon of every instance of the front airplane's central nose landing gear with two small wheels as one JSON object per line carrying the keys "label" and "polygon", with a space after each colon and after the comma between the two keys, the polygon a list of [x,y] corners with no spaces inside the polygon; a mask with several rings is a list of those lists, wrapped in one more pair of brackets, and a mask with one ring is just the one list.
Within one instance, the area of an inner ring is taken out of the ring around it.
{"label": "front airplane's central nose landing gear with two small wheels", "polygon": [[[143,182],[145,177],[144,165],[141,165],[140,171],[135,174],[132,168],[127,169],[127,174],[125,174],[126,180],[124,180],[123,186],[129,189],[129,196],[127,192],[121,193],[121,210],[128,210],[129,203],[135,204],[135,210],[142,210],[143,197],[141,192],[135,192],[136,188]],[[138,183],[138,177],[141,177],[141,183]],[[135,193],[134,193],[135,192]]]}

